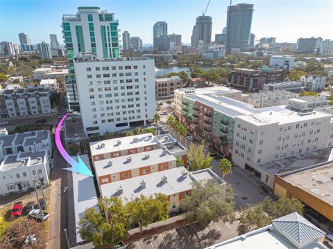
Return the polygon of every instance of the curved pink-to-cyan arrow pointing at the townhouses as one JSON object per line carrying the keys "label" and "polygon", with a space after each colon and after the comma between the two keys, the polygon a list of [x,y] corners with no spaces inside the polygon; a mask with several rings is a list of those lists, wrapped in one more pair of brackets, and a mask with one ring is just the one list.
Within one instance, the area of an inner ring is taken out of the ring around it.
{"label": "curved pink-to-cyan arrow pointing at the townhouses", "polygon": [[69,114],[69,112],[66,113],[64,118],[62,118],[60,120],[60,122],[58,123],[57,129],[56,129],[56,145],[57,145],[58,151],[60,152],[61,156],[67,161],[67,163],[69,163],[69,165],[71,165],[71,167],[64,168],[64,169],[69,170],[71,172],[84,174],[84,175],[87,175],[87,176],[94,176],[92,174],[92,172],[90,171],[90,169],[87,167],[87,165],[85,165],[85,163],[83,163],[83,160],[80,158],[80,156],[77,155],[78,162],[76,162],[76,160],[71,158],[71,156],[67,153],[67,151],[65,150],[65,148],[61,144],[60,129],[61,129],[62,123],[64,122],[64,120],[65,120],[65,118],[67,117],[68,114]]}

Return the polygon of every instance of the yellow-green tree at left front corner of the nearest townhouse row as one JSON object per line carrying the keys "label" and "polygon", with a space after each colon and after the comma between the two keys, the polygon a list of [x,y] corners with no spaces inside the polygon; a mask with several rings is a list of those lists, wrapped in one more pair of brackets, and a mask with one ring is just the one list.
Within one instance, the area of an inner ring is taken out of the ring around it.
{"label": "yellow-green tree at left front corner of the nearest townhouse row", "polygon": [[[99,210],[101,212],[95,208],[85,210],[78,223],[80,237],[92,242],[95,248],[117,246],[128,237],[130,228],[128,209],[121,199],[110,197],[99,200]],[[108,217],[108,221],[105,216]]]}

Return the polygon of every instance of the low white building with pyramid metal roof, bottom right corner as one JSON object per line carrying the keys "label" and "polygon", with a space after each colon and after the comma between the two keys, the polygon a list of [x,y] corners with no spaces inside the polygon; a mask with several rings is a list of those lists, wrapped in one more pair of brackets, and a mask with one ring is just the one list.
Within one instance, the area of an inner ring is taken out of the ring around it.
{"label": "low white building with pyramid metal roof, bottom right corner", "polygon": [[325,232],[297,212],[274,219],[271,225],[246,232],[206,249],[328,249]]}

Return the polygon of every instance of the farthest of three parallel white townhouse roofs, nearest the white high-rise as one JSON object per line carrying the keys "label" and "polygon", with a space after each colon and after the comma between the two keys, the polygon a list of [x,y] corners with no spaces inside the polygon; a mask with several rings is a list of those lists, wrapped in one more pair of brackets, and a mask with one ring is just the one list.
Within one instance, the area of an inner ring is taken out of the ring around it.
{"label": "farthest of three parallel white townhouse roofs, nearest the white high-rise", "polygon": [[[117,141],[121,141],[120,144]],[[90,151],[92,156],[110,153],[114,151],[122,151],[124,149],[133,149],[148,145],[157,145],[159,142],[154,138],[152,133],[128,136],[123,138],[113,138],[101,140],[98,142],[90,142]]]}

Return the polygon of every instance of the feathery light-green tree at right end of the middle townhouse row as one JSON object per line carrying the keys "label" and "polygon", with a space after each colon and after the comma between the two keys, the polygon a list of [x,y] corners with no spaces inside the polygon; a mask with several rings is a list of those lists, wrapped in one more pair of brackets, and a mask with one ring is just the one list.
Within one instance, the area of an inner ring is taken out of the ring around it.
{"label": "feathery light-green tree at right end of the middle townhouse row", "polygon": [[212,167],[210,162],[212,161],[212,156],[210,156],[210,152],[207,154],[203,153],[203,145],[194,145],[191,143],[189,146],[188,158],[189,158],[189,166],[191,170],[205,169]]}

